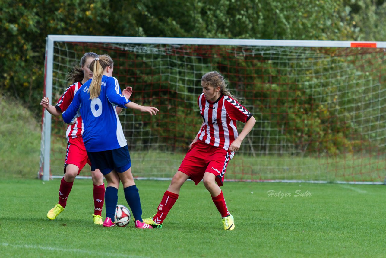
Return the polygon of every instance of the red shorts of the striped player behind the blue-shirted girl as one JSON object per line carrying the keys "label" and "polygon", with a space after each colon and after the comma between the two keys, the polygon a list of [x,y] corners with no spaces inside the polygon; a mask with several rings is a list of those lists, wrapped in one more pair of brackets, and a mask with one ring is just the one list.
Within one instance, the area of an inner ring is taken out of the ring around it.
{"label": "red shorts of the striped player behind the blue-shirted girl", "polygon": [[68,164],[73,164],[79,167],[78,174],[85,167],[86,163],[91,166],[88,159],[85,144],[82,137],[69,138],[67,140],[67,153],[64,161],[64,174],[66,174],[66,167]]}

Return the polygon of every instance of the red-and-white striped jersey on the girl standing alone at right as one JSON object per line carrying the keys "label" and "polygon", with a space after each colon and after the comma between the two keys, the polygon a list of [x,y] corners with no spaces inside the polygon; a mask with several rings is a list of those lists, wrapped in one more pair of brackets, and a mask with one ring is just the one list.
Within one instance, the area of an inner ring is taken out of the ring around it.
{"label": "red-and-white striped jersey on the girl standing alone at right", "polygon": [[[198,140],[228,150],[230,144],[239,136],[236,121],[245,123],[252,114],[229,96],[223,95],[212,102],[207,101],[204,94],[201,94],[197,102],[204,119],[204,124],[198,132]],[[233,155],[234,152],[230,158]]]}

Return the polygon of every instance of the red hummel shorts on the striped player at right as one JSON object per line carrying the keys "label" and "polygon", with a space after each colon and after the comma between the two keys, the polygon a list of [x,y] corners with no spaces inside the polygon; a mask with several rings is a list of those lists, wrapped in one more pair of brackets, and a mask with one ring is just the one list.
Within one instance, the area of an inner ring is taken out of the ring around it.
{"label": "red hummel shorts on the striped player at right", "polygon": [[178,170],[187,174],[196,185],[205,172],[212,173],[216,176],[217,185],[222,186],[229,160],[230,152],[198,140],[188,150]]}

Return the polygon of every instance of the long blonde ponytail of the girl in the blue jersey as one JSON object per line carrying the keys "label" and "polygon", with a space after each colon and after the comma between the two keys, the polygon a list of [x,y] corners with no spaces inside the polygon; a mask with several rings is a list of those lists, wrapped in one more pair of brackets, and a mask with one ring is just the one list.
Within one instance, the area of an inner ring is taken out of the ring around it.
{"label": "long blonde ponytail of the girl in the blue jersey", "polygon": [[109,66],[114,66],[114,61],[109,55],[100,55],[91,62],[90,70],[93,72],[93,79],[87,91],[90,94],[90,99],[95,99],[100,95],[103,70]]}

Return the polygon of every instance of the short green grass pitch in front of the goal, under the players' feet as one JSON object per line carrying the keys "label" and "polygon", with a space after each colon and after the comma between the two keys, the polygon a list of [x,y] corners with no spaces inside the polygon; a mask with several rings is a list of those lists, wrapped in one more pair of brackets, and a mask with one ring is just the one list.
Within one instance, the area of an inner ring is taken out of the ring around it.
{"label": "short green grass pitch in front of the goal, under the players' feet", "polygon": [[[169,181],[136,182],[150,217]],[[222,229],[202,183],[186,182],[154,230],[93,225],[90,179],[75,181],[66,210],[50,221],[58,188],[59,179],[0,182],[2,257],[384,257],[384,185],[226,182],[234,231]],[[122,189],[118,203],[127,206]]]}

